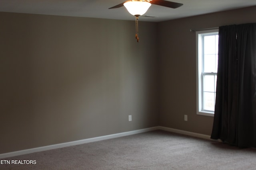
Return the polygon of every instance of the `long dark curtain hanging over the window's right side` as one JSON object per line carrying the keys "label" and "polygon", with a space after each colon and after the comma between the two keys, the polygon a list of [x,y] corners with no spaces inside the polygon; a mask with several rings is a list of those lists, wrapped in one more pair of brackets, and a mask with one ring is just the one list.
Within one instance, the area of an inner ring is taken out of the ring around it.
{"label": "long dark curtain hanging over the window's right side", "polygon": [[219,28],[211,138],[256,147],[256,23]]}

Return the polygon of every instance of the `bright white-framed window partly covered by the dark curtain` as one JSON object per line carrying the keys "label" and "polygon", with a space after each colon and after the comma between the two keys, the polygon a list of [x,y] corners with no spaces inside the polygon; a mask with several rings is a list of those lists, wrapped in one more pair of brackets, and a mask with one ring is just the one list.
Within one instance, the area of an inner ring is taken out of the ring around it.
{"label": "bright white-framed window partly covered by the dark curtain", "polygon": [[197,114],[214,116],[218,70],[218,29],[196,32]]}

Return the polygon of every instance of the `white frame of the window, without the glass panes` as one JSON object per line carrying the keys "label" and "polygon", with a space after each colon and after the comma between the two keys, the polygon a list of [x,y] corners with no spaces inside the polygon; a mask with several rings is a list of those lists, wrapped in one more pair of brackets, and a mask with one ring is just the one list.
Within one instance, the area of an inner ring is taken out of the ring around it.
{"label": "white frame of the window, without the glass panes", "polygon": [[[219,29],[209,29],[203,31],[196,31],[196,114],[214,116],[214,111],[206,111],[202,108],[202,87],[203,87],[203,75],[202,75],[202,35],[216,35]],[[210,73],[211,74],[211,73]],[[214,73],[212,73],[214,74]]]}

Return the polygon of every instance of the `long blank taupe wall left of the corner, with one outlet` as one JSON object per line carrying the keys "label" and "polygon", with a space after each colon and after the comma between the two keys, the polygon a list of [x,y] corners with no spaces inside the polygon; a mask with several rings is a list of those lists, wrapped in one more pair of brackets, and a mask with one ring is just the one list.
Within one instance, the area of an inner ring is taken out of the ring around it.
{"label": "long blank taupe wall left of the corner, with one outlet", "polygon": [[158,125],[156,23],[140,22],[137,43],[134,21],[0,22],[0,153]]}

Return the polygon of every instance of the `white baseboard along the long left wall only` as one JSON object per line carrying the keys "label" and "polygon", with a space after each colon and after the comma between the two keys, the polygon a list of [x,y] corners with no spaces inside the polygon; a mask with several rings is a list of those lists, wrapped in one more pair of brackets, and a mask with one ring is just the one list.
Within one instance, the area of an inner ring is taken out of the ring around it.
{"label": "white baseboard along the long left wall only", "polygon": [[60,144],[56,144],[56,145],[48,145],[48,146],[44,146],[44,147],[8,152],[8,153],[0,154],[0,159],[12,157],[12,156],[18,156],[18,155],[22,155],[22,154],[40,152],[40,151],[45,151],[45,150],[50,150],[50,149],[58,149],[58,148],[69,147],[69,146],[74,146],[74,145],[80,145],[80,144],[84,144],[84,143],[102,141],[102,140],[106,140],[106,139],[113,139],[113,138],[123,137],[123,136],[128,136],[128,135],[134,135],[137,133],[144,133],[144,132],[148,132],[148,131],[154,131],[157,129],[158,129],[158,127],[150,127],[150,128],[139,129],[139,130],[135,130],[135,131],[128,131],[128,132],[116,133],[116,134],[106,135],[106,136],[101,136],[101,137],[82,139],[79,141],[72,141],[72,142],[60,143]]}

